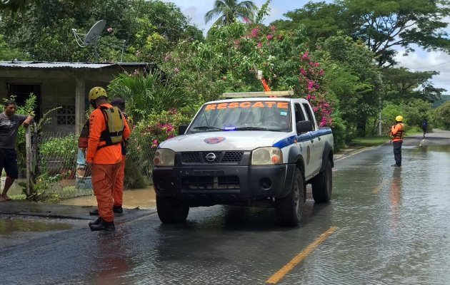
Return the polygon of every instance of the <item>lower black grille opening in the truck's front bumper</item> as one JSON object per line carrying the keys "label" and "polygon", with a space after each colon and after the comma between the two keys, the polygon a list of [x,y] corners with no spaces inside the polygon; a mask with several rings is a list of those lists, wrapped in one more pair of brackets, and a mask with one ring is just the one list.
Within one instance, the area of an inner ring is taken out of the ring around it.
{"label": "lower black grille opening in the truck's front bumper", "polygon": [[239,177],[237,176],[194,176],[184,177],[183,188],[189,190],[226,190],[239,189]]}

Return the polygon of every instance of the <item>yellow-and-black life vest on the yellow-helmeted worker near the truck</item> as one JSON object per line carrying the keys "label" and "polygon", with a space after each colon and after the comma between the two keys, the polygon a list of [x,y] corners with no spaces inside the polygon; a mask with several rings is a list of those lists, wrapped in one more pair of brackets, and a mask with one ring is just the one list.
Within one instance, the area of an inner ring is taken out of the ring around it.
{"label": "yellow-and-black life vest on the yellow-helmeted worker near the truck", "polygon": [[[122,113],[117,107],[105,107],[100,106],[101,113],[103,114],[106,122],[106,129],[100,134],[100,141],[106,142],[104,145],[97,147],[97,150],[109,145],[118,145],[123,140],[123,133],[125,128],[124,118]],[[89,120],[84,124],[81,129],[80,136],[78,138],[78,147],[87,148],[89,141]]]}

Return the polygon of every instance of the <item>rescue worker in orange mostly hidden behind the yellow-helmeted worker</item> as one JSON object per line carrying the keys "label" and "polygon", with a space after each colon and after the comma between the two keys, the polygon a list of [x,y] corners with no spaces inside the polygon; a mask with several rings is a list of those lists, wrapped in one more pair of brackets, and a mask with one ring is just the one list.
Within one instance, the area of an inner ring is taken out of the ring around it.
{"label": "rescue worker in orange mostly hidden behind the yellow-helmeted worker", "polygon": [[[125,113],[125,101],[122,98],[113,98],[111,100],[111,105],[116,106],[121,111],[128,123],[128,127],[133,130],[133,119]],[[119,173],[117,174],[116,184],[113,190],[113,212],[121,214],[124,212],[122,209],[122,202],[124,197],[124,178],[125,178],[125,160],[126,160],[126,145],[128,145],[128,140],[121,142],[122,147],[122,162],[119,168]]]}

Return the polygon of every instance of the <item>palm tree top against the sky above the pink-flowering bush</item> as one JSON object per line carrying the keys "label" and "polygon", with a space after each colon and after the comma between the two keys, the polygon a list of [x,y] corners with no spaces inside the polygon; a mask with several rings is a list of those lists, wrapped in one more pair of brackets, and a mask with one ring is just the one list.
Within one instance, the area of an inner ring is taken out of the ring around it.
{"label": "palm tree top against the sky above the pink-flowering bush", "polygon": [[[235,19],[254,19],[254,12],[258,9],[252,1],[237,0],[216,0],[214,2],[214,9],[206,12],[205,24],[212,19],[219,16],[219,19],[214,23],[218,26],[229,26],[234,23]],[[213,26],[214,26],[213,25]]]}

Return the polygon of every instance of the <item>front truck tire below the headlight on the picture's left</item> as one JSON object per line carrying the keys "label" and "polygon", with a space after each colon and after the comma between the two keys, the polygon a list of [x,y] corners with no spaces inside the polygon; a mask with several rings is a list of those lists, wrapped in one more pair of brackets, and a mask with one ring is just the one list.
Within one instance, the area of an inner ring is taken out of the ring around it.
{"label": "front truck tire below the headlight on the picture's left", "polygon": [[159,220],[165,224],[186,222],[189,206],[174,197],[156,195],[156,210]]}

